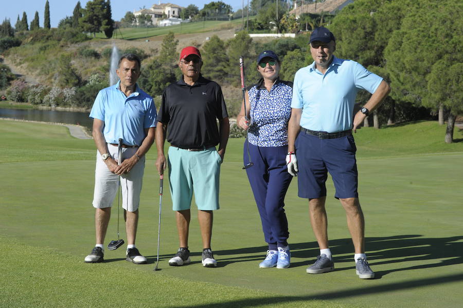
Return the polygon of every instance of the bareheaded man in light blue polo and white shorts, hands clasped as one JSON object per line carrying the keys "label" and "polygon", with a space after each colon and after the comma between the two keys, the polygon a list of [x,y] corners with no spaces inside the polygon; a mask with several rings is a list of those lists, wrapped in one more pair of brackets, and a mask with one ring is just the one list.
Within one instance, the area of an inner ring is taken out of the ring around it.
{"label": "bareheaded man in light blue polo and white shorts, hands clasped", "polygon": [[[146,258],[135,247],[135,237],[145,154],[154,142],[156,107],[153,99],[136,84],[140,76],[140,59],[136,55],[123,55],[116,73],[120,81],[100,90],[90,113],[98,150],[93,197],[96,245],[84,261],[103,261],[104,237],[120,180],[128,244],[126,260],[145,264]],[[122,138],[120,165],[119,138]]]}

